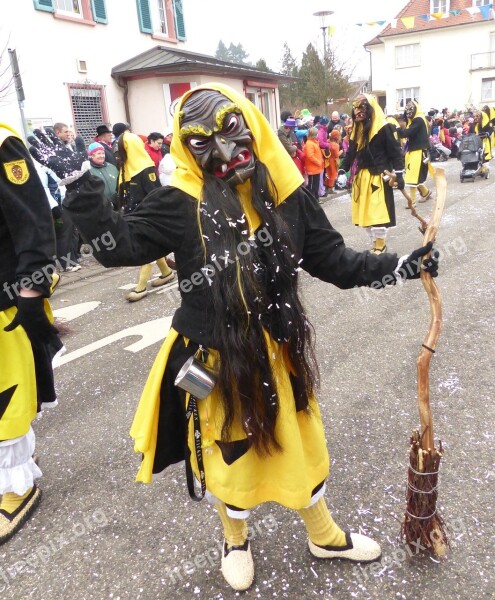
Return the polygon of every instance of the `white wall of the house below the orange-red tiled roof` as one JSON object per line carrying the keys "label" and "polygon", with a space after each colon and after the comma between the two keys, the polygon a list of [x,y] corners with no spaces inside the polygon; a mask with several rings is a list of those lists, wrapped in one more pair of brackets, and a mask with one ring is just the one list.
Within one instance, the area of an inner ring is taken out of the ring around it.
{"label": "white wall of the house below the orange-red tiled roof", "polygon": [[[493,21],[447,27],[435,31],[383,38],[384,44],[370,46],[373,89],[385,90],[387,111],[396,112],[396,90],[419,87],[420,105],[461,110],[481,103],[481,79],[495,77],[495,69],[470,72],[471,54],[490,51]],[[420,44],[420,65],[397,69],[395,46]]]}

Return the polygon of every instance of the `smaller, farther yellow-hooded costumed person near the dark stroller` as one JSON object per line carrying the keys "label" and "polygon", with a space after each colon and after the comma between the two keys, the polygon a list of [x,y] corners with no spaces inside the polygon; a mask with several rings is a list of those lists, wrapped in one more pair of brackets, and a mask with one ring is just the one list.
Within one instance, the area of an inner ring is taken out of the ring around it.
{"label": "smaller, farther yellow-hooded costumed person near the dark stroller", "polygon": [[425,115],[416,100],[409,100],[406,104],[404,117],[407,121],[405,128],[399,127],[397,133],[406,141],[406,185],[409,187],[413,208],[416,206],[416,190],[420,193],[420,202],[431,198],[431,190],[426,186],[428,178],[428,163],[430,160],[429,127]]}

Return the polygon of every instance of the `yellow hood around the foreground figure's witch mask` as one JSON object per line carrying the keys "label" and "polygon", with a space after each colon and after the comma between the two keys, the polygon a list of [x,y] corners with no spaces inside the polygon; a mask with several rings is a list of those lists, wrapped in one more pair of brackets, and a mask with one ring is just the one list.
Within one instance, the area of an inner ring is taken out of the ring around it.
{"label": "yellow hood around the foreground figure's witch mask", "polygon": [[[216,90],[235,102],[244,116],[247,127],[253,135],[253,150],[256,157],[266,165],[273,179],[278,201],[283,202],[292,192],[304,183],[303,177],[292,158],[284,149],[270,124],[256,106],[242,94],[220,83],[207,83],[186,92],[177,105],[174,114],[174,136],[170,151],[177,169],[172,174],[171,185],[201,199],[203,173],[188,147],[180,141],[179,120],[181,109],[189,96],[198,90]],[[242,186],[244,187],[245,184]]]}

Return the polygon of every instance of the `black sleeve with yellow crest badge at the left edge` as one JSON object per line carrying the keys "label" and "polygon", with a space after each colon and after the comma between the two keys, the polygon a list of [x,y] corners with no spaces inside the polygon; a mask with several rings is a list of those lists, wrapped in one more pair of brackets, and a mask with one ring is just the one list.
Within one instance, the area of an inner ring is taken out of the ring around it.
{"label": "black sleeve with yellow crest badge at the left edge", "polygon": [[[9,165],[16,161],[18,168]],[[49,296],[51,277],[46,266],[53,264],[55,254],[52,213],[31,155],[13,136],[0,147],[0,238],[2,263],[16,262],[15,273],[12,264],[0,266],[2,279],[13,276],[21,287]],[[12,246],[15,256],[9,256]]]}

